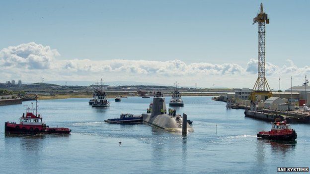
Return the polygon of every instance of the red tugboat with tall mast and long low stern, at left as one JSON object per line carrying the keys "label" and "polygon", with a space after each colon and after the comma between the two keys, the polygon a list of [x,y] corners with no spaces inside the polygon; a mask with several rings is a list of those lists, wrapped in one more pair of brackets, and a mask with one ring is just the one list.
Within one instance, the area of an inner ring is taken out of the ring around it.
{"label": "red tugboat with tall mast and long low stern, at left", "polygon": [[23,114],[19,118],[19,124],[16,122],[5,122],[5,134],[70,134],[71,129],[66,127],[49,127],[43,123],[42,117],[38,114],[38,97],[36,97],[36,114],[34,115],[30,110],[33,109],[27,108],[26,116]]}

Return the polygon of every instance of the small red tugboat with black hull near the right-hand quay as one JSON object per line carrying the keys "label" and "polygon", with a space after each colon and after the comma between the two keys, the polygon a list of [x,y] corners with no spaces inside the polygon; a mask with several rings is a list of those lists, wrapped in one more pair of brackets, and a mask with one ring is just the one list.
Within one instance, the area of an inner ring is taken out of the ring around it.
{"label": "small red tugboat with black hull near the right-hand quay", "polygon": [[297,133],[291,128],[286,121],[275,121],[272,123],[270,131],[261,131],[257,134],[257,137],[269,140],[295,140]]}

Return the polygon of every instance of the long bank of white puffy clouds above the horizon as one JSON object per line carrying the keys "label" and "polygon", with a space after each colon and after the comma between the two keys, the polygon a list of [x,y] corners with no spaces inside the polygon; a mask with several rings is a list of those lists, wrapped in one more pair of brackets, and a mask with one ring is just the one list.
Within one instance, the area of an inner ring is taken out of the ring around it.
{"label": "long bank of white puffy clouds above the horizon", "polygon": [[[42,77],[48,80],[93,80],[104,78],[106,81],[155,81],[171,84],[171,80],[183,81],[186,85],[195,83],[223,83],[221,86],[252,86],[257,74],[257,59],[250,59],[246,67],[235,63],[212,64],[208,62],[187,64],[181,60],[58,60],[60,54],[49,46],[34,42],[11,46],[0,51],[0,80],[12,78],[36,82]],[[266,62],[266,75],[279,77],[284,74],[300,76],[309,74],[310,67],[297,67],[292,60],[282,67]],[[243,80],[240,80],[243,79]],[[236,83],[237,80],[242,82]],[[169,82],[164,82],[169,81]],[[172,83],[173,84],[173,83]],[[247,84],[247,85],[246,85]],[[220,84],[219,84],[220,85]]]}

